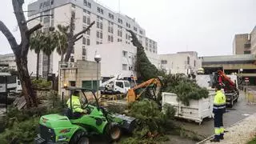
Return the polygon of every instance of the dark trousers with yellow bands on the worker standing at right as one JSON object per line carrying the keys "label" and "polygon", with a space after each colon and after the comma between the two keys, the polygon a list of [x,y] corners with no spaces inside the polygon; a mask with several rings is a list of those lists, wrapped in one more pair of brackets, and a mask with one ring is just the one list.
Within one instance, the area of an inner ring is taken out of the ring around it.
{"label": "dark trousers with yellow bands on the worker standing at right", "polygon": [[223,138],[224,127],[223,127],[223,112],[214,113],[214,132],[216,139]]}

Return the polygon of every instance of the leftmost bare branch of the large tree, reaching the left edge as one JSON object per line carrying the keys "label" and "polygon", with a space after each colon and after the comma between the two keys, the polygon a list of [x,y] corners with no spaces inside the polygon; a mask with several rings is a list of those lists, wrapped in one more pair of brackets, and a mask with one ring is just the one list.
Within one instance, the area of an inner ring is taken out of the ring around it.
{"label": "leftmost bare branch of the large tree, reaching the left edge", "polygon": [[2,31],[2,34],[4,34],[10,43],[10,47],[16,51],[16,48],[18,46],[18,43],[16,42],[16,39],[14,38],[14,35],[10,33],[10,30],[6,27],[6,25],[0,21],[0,30]]}

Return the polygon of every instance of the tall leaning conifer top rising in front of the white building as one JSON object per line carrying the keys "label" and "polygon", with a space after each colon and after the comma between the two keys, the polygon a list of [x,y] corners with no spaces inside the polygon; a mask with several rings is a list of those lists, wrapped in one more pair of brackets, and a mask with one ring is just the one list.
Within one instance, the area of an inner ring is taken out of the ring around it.
{"label": "tall leaning conifer top rising in front of the white building", "polygon": [[133,45],[137,47],[135,70],[138,72],[138,77],[142,78],[143,81],[147,81],[150,78],[156,78],[159,73],[157,67],[147,58],[144,47],[138,42],[136,34],[131,30],[128,30],[128,32],[131,34]]}

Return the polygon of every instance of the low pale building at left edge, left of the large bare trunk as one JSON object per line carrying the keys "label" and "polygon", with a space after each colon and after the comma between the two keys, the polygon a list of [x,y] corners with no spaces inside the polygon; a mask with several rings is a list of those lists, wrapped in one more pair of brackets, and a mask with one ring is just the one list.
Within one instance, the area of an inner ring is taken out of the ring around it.
{"label": "low pale building at left edge, left of the large bare trunk", "polygon": [[0,54],[0,64],[7,64],[9,69],[17,70],[14,54]]}

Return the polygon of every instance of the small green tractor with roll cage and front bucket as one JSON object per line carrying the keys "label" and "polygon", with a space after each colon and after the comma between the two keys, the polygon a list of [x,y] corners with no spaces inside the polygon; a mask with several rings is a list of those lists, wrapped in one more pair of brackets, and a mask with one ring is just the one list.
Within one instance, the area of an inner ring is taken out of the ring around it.
{"label": "small green tractor with roll cage and front bucket", "polygon": [[[66,87],[70,90],[70,109],[66,108],[63,114],[43,115],[39,120],[39,134],[34,138],[35,143],[70,143],[88,144],[94,134],[103,134],[107,141],[118,141],[123,131],[132,132],[135,127],[135,118],[121,114],[111,114],[98,105],[95,90],[78,87]],[[72,110],[72,93],[74,90],[82,92],[85,98],[82,108],[89,114],[82,114],[75,118]],[[94,102],[90,103],[86,94],[92,93]]]}

